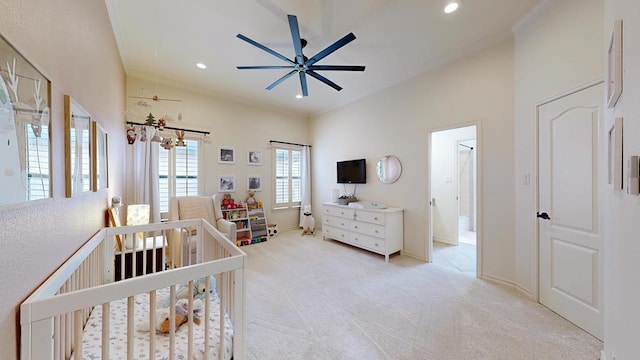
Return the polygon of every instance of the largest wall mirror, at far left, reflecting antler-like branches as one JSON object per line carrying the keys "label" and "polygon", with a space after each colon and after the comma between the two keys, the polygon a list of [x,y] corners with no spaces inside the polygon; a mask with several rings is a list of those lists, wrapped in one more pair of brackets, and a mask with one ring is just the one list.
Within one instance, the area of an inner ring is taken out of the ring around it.
{"label": "largest wall mirror, at far left, reflecting antler-like branches", "polygon": [[51,82],[0,36],[0,207],[51,197]]}

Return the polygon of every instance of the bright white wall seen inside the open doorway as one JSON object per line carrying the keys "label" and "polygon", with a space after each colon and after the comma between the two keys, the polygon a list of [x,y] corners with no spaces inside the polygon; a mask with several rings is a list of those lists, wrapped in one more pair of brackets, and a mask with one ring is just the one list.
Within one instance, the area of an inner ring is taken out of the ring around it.
{"label": "bright white wall seen inside the open doorway", "polygon": [[438,131],[431,136],[431,198],[435,198],[433,240],[458,244],[458,141],[475,139],[473,126]]}

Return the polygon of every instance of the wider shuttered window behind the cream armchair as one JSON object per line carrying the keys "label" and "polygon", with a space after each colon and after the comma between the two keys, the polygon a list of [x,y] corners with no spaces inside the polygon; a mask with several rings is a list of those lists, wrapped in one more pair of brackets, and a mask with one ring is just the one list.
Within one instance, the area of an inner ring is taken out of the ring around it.
{"label": "wider shuttered window behind the cream armchair", "polygon": [[[187,146],[171,150],[160,149],[158,174],[160,177],[160,213],[169,212],[172,196],[198,195],[198,140],[184,140]],[[164,216],[163,216],[164,218]]]}

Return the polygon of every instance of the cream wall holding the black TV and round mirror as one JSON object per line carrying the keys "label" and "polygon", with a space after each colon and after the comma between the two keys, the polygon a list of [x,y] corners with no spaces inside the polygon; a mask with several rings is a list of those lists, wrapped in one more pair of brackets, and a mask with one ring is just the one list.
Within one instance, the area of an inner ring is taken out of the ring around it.
{"label": "cream wall holding the black TV and round mirror", "polygon": [[[341,109],[319,115],[313,136],[314,212],[337,188],[335,162],[367,159],[362,200],[405,209],[404,251],[425,259],[427,244],[427,138],[430,130],[481,120],[484,243],[482,275],[514,280],[513,44],[505,41]],[[391,185],[375,164],[393,154],[402,176]]]}

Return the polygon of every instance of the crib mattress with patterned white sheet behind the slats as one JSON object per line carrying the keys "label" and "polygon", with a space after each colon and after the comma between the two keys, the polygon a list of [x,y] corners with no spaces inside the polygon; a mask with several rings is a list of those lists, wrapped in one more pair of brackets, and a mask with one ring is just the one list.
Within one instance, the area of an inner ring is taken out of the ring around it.
{"label": "crib mattress with patterned white sheet behind the slats", "polygon": [[[156,292],[158,299],[168,296],[169,289],[160,289]],[[218,347],[220,344],[220,299],[217,294],[212,294],[209,316],[209,359],[218,359]],[[149,359],[149,295],[140,294],[134,298],[134,358]],[[109,359],[119,360],[127,358],[127,300],[117,300],[111,303],[109,331]],[[232,357],[233,327],[227,314],[225,314],[225,341],[224,359]],[[194,355],[193,359],[203,359],[203,347],[205,341],[204,324],[202,319],[199,325],[193,324]],[[188,324],[180,326],[175,332],[176,359],[188,359]],[[101,359],[102,356],[102,307],[97,306],[89,317],[82,337],[82,359]],[[156,359],[169,359],[169,334],[156,333]]]}

